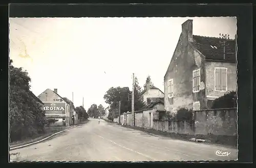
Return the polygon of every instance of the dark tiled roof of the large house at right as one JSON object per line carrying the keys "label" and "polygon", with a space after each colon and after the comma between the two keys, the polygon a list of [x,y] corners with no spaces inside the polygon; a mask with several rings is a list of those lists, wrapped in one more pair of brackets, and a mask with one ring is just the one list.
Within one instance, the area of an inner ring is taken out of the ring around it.
{"label": "dark tiled roof of the large house at right", "polygon": [[[204,37],[204,36],[196,36],[193,35],[193,46],[196,47],[196,49],[202,53],[206,59],[211,60],[224,60],[224,47],[220,43],[220,41],[223,41],[224,39],[220,39],[217,37]],[[236,43],[233,39],[225,39],[226,45],[225,45],[225,60],[227,61],[236,61],[236,55],[235,55],[235,47]],[[211,46],[216,46],[212,48]],[[228,54],[233,53],[233,54]]]}

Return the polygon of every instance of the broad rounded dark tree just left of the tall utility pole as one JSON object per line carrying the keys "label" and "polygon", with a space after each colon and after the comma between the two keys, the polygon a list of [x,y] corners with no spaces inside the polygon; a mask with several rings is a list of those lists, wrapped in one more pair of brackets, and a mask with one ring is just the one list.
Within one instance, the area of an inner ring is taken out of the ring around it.
{"label": "broad rounded dark tree just left of the tall utility pole", "polygon": [[105,103],[110,104],[110,114],[111,116],[118,116],[118,102],[121,101],[120,111],[121,114],[123,112],[131,111],[132,102],[129,100],[129,94],[131,91],[129,87],[111,87],[106,94],[104,95],[103,99]]}

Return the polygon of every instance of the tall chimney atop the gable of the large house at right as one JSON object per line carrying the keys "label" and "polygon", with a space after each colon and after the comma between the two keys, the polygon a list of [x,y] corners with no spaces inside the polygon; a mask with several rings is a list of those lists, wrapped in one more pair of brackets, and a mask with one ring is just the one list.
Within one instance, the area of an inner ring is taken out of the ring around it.
{"label": "tall chimney atop the gable of the large house at right", "polygon": [[192,42],[193,41],[193,20],[188,19],[187,21],[182,23],[181,27],[182,27],[182,41],[185,43],[187,41]]}

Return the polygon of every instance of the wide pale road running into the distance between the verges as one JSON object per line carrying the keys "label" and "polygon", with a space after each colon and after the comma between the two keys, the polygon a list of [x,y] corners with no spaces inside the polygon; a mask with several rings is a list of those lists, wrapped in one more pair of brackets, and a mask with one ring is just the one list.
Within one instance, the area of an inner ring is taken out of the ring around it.
{"label": "wide pale road running into the distance between the verges", "polygon": [[[218,156],[217,151],[228,152]],[[90,122],[53,138],[10,151],[12,161],[211,161],[236,160],[238,151],[150,135],[119,125]]]}

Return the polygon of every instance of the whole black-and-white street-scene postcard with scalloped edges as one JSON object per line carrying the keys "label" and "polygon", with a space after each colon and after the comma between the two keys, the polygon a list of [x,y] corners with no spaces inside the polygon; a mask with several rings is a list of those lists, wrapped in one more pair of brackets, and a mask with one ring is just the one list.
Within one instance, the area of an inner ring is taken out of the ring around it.
{"label": "whole black-and-white street-scene postcard with scalloped edges", "polygon": [[238,159],[236,17],[11,17],[10,160]]}

